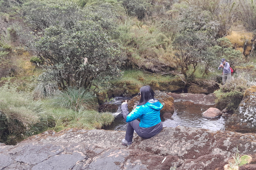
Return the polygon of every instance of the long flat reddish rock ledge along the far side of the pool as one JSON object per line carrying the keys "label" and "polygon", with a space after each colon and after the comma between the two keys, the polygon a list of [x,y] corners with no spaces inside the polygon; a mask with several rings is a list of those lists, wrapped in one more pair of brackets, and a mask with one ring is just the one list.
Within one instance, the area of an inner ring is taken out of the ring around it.
{"label": "long flat reddish rock ledge along the far side of the pool", "polygon": [[215,104],[215,95],[210,93],[206,94],[192,94],[192,93],[168,93],[169,96],[172,96],[175,102],[179,101],[191,101],[195,104],[202,105],[214,105]]}

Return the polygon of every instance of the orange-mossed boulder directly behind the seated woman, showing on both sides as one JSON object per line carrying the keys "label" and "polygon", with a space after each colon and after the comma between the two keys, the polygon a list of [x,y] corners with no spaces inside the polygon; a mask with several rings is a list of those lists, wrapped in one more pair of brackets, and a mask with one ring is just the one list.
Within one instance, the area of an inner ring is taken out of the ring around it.
{"label": "orange-mossed boulder directly behind the seated woman, showing on both sides", "polygon": [[[156,94],[155,98],[159,100],[159,102],[162,103],[162,105],[164,105],[163,108],[160,110],[160,113],[166,113],[165,115],[167,115],[168,113],[169,115],[172,115],[175,110],[173,97],[167,95],[166,92],[160,92],[159,90],[156,90],[154,92]],[[139,100],[140,96],[137,95],[127,102],[129,112],[133,110],[134,105],[136,105]]]}

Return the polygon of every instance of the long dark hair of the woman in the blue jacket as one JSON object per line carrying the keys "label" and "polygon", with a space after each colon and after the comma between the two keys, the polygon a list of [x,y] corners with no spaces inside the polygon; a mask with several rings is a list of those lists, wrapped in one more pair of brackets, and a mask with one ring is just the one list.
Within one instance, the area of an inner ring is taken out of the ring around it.
{"label": "long dark hair of the woman in the blue jacket", "polygon": [[150,99],[154,99],[155,92],[150,86],[143,86],[140,88],[140,101],[137,106],[145,105]]}

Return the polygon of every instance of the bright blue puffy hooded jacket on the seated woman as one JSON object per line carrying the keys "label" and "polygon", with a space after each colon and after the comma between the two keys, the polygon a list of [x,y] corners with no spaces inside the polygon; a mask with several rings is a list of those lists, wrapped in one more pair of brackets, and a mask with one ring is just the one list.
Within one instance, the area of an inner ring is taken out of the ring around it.
{"label": "bright blue puffy hooded jacket on the seated woman", "polygon": [[163,105],[158,101],[151,99],[145,105],[136,106],[131,113],[127,115],[126,122],[140,119],[140,127],[149,128],[161,122],[160,110]]}

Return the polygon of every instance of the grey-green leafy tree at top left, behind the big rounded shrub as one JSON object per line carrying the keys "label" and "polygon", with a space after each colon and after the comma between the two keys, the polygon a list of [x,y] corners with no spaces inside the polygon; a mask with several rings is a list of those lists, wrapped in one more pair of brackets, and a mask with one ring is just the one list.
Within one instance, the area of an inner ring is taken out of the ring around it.
{"label": "grey-green leafy tree at top left, behind the big rounded shrub", "polygon": [[34,29],[62,25],[72,28],[75,21],[83,20],[82,10],[72,1],[29,1],[23,5],[26,21]]}

